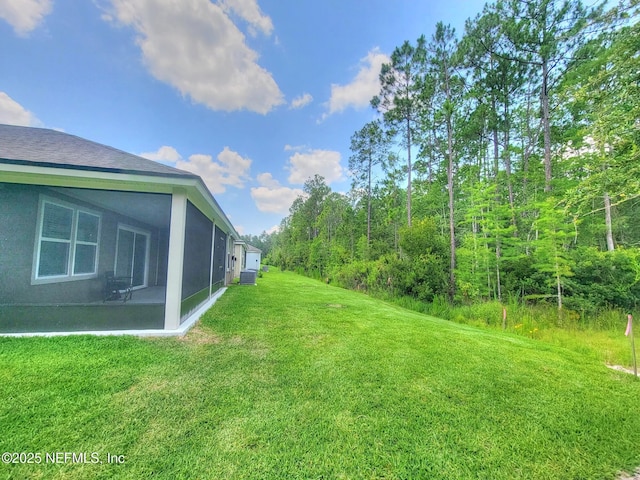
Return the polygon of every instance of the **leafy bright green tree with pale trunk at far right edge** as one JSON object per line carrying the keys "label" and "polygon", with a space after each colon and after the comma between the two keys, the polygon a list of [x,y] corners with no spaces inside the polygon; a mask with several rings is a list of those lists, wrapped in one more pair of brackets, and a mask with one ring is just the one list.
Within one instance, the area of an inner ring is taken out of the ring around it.
{"label": "leafy bright green tree with pale trunk at far right edge", "polygon": [[[638,4],[633,3],[637,17]],[[590,60],[575,65],[563,84],[571,119],[581,125],[582,138],[571,156],[589,172],[567,200],[580,215],[604,213],[609,251],[615,248],[614,206],[640,196],[639,37],[637,22],[602,34],[583,47],[582,55]],[[596,199],[599,206],[593,208]]]}

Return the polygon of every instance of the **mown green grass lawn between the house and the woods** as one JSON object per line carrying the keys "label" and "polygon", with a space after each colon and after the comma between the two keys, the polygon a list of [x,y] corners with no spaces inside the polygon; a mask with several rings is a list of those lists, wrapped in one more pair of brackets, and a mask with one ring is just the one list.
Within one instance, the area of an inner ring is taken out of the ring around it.
{"label": "mown green grass lawn between the house and the woods", "polygon": [[42,455],[0,478],[613,479],[640,465],[634,377],[278,271],[230,287],[182,339],[4,338],[0,366],[0,453]]}

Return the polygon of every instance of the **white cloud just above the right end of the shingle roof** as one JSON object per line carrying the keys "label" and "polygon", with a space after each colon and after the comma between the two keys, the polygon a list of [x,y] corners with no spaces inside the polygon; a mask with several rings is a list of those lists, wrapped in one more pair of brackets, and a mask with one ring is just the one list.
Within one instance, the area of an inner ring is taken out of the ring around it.
{"label": "white cloud just above the right end of the shingle roof", "polygon": [[167,146],[160,147],[157,152],[141,153],[140,156],[195,173],[214,195],[224,193],[227,186],[243,188],[244,182],[249,179],[251,167],[251,159],[244,158],[229,147],[224,147],[217,161],[211,155],[202,153],[195,153],[184,160],[175,148]]}

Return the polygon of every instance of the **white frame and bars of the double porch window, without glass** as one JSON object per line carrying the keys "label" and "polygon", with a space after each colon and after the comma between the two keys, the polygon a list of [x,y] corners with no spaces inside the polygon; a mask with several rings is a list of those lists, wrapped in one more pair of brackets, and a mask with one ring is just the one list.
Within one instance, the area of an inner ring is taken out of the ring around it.
{"label": "white frame and bars of the double porch window, without glass", "polygon": [[[57,207],[66,208],[72,211],[72,221],[71,221],[71,239],[70,240],[59,240],[59,239],[49,239],[42,236],[43,231],[43,223],[44,223],[44,209],[47,204],[55,205]],[[96,242],[86,242],[78,240],[78,216],[80,213],[86,215],[92,215],[98,218],[98,238]],[[41,285],[46,283],[59,283],[59,282],[72,282],[78,280],[88,280],[92,278],[97,278],[98,276],[98,259],[100,257],[100,238],[101,238],[101,229],[102,229],[102,215],[96,211],[80,207],[73,203],[66,202],[64,200],[59,200],[57,198],[47,197],[44,195],[40,196],[40,200],[38,202],[38,220],[36,225],[36,242],[34,246],[33,253],[33,267],[31,269],[31,284],[32,285]],[[40,254],[42,248],[43,241],[56,241],[60,243],[67,243],[69,245],[69,258],[67,260],[67,273],[64,275],[46,275],[40,276],[38,274],[40,270]],[[76,246],[77,245],[95,245],[96,247],[96,256],[94,260],[93,272],[89,273],[78,273],[75,274],[75,259],[76,259]]]}

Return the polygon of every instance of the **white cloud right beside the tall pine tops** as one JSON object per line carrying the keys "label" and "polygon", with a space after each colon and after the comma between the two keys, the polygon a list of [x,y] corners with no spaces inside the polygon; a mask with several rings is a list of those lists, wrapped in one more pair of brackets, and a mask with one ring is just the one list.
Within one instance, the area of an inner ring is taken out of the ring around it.
{"label": "white cloud right beside the tall pine tops", "polygon": [[380,69],[390,58],[376,47],[360,60],[360,70],[355,78],[346,85],[331,85],[329,112],[323,119],[339,113],[349,107],[362,108],[369,105],[371,99],[380,93]]}

